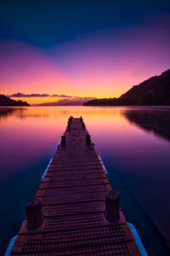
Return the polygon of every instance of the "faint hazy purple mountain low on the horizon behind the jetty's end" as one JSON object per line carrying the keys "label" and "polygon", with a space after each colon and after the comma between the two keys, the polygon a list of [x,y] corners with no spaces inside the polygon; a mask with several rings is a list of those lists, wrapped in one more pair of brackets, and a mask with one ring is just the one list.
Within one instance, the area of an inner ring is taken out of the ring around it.
{"label": "faint hazy purple mountain low on the horizon behind the jetty's end", "polygon": [[82,106],[84,102],[94,100],[94,97],[74,97],[72,99],[62,99],[58,102],[47,102],[38,106]]}

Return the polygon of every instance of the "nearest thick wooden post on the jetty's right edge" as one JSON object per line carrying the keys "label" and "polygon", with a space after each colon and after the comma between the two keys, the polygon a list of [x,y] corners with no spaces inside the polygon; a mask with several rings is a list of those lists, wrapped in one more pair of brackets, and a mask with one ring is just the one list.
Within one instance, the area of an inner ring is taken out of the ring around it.
{"label": "nearest thick wooden post on the jetty's right edge", "polygon": [[105,219],[109,222],[119,220],[120,195],[116,190],[111,189],[105,196]]}

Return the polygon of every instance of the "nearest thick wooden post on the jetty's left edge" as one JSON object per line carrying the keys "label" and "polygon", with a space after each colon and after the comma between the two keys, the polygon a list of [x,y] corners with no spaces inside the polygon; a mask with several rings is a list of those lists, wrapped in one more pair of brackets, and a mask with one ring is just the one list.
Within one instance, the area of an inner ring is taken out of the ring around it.
{"label": "nearest thick wooden post on the jetty's left edge", "polygon": [[26,227],[36,230],[42,225],[42,205],[37,197],[32,198],[26,205]]}

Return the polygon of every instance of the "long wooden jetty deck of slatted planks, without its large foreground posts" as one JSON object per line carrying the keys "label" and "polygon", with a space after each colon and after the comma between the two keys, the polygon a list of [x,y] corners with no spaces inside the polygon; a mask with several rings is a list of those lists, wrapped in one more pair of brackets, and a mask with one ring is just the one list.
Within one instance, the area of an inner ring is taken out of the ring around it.
{"label": "long wooden jetty deck of slatted planks, without its large foreground posts", "polygon": [[140,255],[121,210],[115,224],[105,220],[111,185],[87,132],[71,120],[37,191],[42,225],[28,230],[25,220],[11,255]]}

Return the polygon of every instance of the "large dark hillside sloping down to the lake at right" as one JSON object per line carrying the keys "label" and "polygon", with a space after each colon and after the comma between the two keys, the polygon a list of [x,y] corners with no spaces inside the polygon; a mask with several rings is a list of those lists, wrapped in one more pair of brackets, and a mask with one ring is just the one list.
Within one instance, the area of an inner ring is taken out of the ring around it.
{"label": "large dark hillside sloping down to the lake at right", "polygon": [[127,90],[119,98],[96,99],[84,106],[170,105],[170,69],[160,76],[145,80]]}

